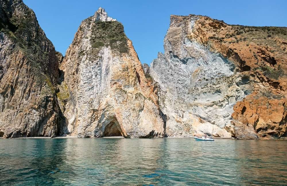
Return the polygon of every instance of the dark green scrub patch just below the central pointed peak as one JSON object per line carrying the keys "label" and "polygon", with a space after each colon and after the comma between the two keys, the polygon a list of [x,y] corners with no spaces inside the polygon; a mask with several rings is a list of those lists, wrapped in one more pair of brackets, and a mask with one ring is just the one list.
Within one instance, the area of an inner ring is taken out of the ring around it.
{"label": "dark green scrub patch just below the central pointed peak", "polygon": [[128,52],[127,36],[123,25],[118,21],[97,21],[92,27],[90,41],[94,55],[98,54],[98,49],[103,46],[110,46],[111,49],[116,49],[121,54]]}

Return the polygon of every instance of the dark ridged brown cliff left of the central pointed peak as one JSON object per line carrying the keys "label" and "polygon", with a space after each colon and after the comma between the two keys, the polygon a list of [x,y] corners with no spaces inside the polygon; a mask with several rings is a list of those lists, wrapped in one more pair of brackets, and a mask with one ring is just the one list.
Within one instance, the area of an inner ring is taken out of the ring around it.
{"label": "dark ridged brown cliff left of the central pointed peak", "polygon": [[0,6],[1,137],[56,136],[55,48],[21,0],[1,0]]}

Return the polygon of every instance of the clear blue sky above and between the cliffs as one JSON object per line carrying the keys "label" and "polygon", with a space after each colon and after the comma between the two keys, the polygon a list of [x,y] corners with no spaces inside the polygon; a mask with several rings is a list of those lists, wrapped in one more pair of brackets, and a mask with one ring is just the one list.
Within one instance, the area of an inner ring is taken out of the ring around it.
{"label": "clear blue sky above and between the cliffs", "polygon": [[150,64],[163,52],[169,17],[207,15],[228,24],[287,26],[287,0],[23,0],[34,10],[38,22],[57,51],[65,52],[81,21],[103,7],[110,17],[123,23],[142,63]]}

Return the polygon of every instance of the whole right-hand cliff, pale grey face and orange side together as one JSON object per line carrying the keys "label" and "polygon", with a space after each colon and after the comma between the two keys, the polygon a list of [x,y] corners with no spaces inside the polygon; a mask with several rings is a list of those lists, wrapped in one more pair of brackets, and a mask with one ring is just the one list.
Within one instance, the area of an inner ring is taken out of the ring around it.
{"label": "whole right-hand cliff, pale grey face and orange side together", "polygon": [[[150,76],[168,136],[286,136],[286,27],[170,17]],[[147,68],[146,68],[147,69]]]}

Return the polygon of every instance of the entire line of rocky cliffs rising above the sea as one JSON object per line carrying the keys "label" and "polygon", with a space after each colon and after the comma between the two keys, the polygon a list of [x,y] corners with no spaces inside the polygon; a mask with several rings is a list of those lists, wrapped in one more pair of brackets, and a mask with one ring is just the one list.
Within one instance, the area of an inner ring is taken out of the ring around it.
{"label": "entire line of rocky cliffs rising above the sea", "polygon": [[0,2],[0,137],[287,135],[286,27],[171,15],[148,66],[102,8],[63,57],[21,0]]}

